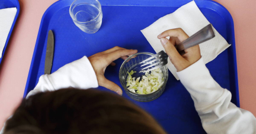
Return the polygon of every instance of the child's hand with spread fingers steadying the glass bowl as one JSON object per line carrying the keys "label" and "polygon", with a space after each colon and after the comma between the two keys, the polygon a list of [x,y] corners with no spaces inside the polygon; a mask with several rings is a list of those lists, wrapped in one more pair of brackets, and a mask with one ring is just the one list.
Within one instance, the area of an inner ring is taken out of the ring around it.
{"label": "child's hand with spread fingers steadying the glass bowl", "polygon": [[97,76],[98,84],[112,91],[116,91],[121,95],[123,93],[121,88],[116,83],[113,83],[105,78],[105,68],[107,68],[108,65],[115,66],[116,63],[113,63],[113,61],[117,60],[117,58],[123,58],[123,60],[126,60],[127,55],[132,55],[135,53],[137,53],[137,50],[127,50],[121,47],[113,47],[109,50],[88,57]]}

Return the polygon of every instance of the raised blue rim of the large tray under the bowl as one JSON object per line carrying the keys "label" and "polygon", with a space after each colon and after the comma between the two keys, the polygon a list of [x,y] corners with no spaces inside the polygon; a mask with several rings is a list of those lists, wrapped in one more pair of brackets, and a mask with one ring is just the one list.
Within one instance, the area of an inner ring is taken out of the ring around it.
{"label": "raised blue rim of the large tray under the bowl", "polygon": [[[41,22],[40,22],[39,32],[37,34],[37,40],[36,40],[36,44],[35,44],[35,48],[34,48],[34,52],[33,52],[33,57],[32,57],[31,64],[30,64],[30,70],[28,72],[28,77],[27,77],[27,82],[26,82],[26,85],[25,85],[23,98],[25,98],[25,96],[27,96],[26,93],[27,93],[27,90],[28,90],[28,84],[30,83],[30,80],[31,80],[31,73],[32,73],[33,65],[36,61],[35,56],[36,56],[37,48],[38,48],[38,45],[39,45],[39,38],[40,38],[40,35],[42,34],[41,30],[42,30],[42,27],[43,27],[44,19],[46,18],[47,13],[50,11],[50,9],[52,9],[53,6],[56,6],[57,4],[59,4],[60,2],[63,2],[63,1],[66,1],[66,0],[56,1],[55,3],[50,5],[49,8],[47,8],[46,11],[43,14],[43,17],[42,17]],[[195,2],[197,2],[197,1],[199,1],[199,0],[196,0]],[[236,94],[235,94],[236,96],[233,96],[233,97],[236,97],[236,106],[240,107],[239,87],[238,87],[238,71],[237,71],[236,48],[235,48],[235,30],[234,30],[232,15],[228,11],[228,9],[226,9],[223,5],[221,5],[221,4],[219,4],[215,1],[204,0],[204,1],[200,1],[200,2],[211,2],[212,4],[216,4],[217,6],[220,6],[223,9],[223,11],[225,11],[226,14],[228,14],[228,16],[229,16],[228,19],[231,23],[231,33],[232,33],[232,39],[231,39],[232,40],[232,54],[233,54],[232,61],[233,61],[233,71],[235,73],[234,76],[235,76],[235,92],[236,92]],[[105,5],[105,4],[102,4],[102,5],[103,6],[143,6],[143,5]],[[171,6],[171,7],[180,7],[180,6]],[[210,9],[210,8],[207,8],[207,9]],[[213,11],[216,12],[216,10],[213,10]]]}

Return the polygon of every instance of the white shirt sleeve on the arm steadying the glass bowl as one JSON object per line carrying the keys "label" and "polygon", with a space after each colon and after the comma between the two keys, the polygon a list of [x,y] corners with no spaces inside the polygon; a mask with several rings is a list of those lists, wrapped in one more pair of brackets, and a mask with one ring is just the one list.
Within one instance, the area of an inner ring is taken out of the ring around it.
{"label": "white shirt sleeve on the arm steadying the glass bowl", "polygon": [[77,89],[98,87],[96,74],[86,56],[66,64],[52,74],[44,74],[41,76],[39,83],[37,83],[34,90],[31,90],[27,94],[27,97],[41,91],[55,91],[69,87]]}

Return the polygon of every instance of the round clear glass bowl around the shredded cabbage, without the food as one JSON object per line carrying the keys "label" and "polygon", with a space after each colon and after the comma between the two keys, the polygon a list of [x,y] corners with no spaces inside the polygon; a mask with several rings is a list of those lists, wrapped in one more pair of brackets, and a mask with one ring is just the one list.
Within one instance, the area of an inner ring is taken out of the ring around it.
{"label": "round clear glass bowl around the shredded cabbage, without the food", "polygon": [[[167,80],[168,80],[168,68],[166,66],[161,67],[162,73],[164,74],[164,84],[162,84],[161,87],[159,87],[158,90],[156,90],[153,93],[150,94],[137,94],[137,93],[133,93],[132,91],[128,90],[126,87],[126,79],[127,79],[127,71],[137,71],[139,72],[143,67],[140,67],[142,64],[139,64],[140,62],[142,62],[143,60],[145,60],[146,58],[151,57],[152,53],[147,53],[147,52],[142,52],[142,53],[136,53],[133,55],[130,55],[130,57],[128,57],[126,60],[124,60],[123,64],[120,67],[119,70],[119,80],[121,85],[123,86],[124,91],[126,91],[126,94],[132,98],[133,100],[136,100],[138,102],[150,102],[152,100],[155,100],[156,98],[158,98],[159,96],[161,96],[161,94],[164,92],[165,90],[165,86],[167,84]],[[137,75],[137,76],[136,76]],[[133,77],[141,77],[142,75],[145,75],[145,73],[135,73],[133,74]]]}

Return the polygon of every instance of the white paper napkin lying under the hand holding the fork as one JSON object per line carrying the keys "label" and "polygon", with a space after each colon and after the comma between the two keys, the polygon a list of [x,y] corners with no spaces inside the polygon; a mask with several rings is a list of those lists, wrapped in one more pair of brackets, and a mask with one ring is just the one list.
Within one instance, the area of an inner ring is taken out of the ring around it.
{"label": "white paper napkin lying under the hand holding the fork", "polygon": [[[188,36],[191,36],[208,24],[210,24],[210,22],[207,21],[207,19],[201,13],[196,3],[191,1],[188,4],[178,8],[172,14],[168,14],[162,18],[159,18],[149,27],[141,30],[141,32],[146,37],[156,53],[158,53],[159,51],[164,50],[160,40],[157,38],[157,36],[162,32],[173,28],[182,28],[188,34]],[[222,37],[222,35],[220,35],[219,32],[215,30],[215,28],[213,28],[213,31],[215,32],[214,38],[199,44],[201,55],[205,64],[215,59],[217,55],[222,53],[222,51],[226,50],[226,48],[230,46]],[[176,73],[177,70],[169,58],[167,67],[169,71],[171,71],[171,73],[174,75],[174,77],[179,80]]]}

